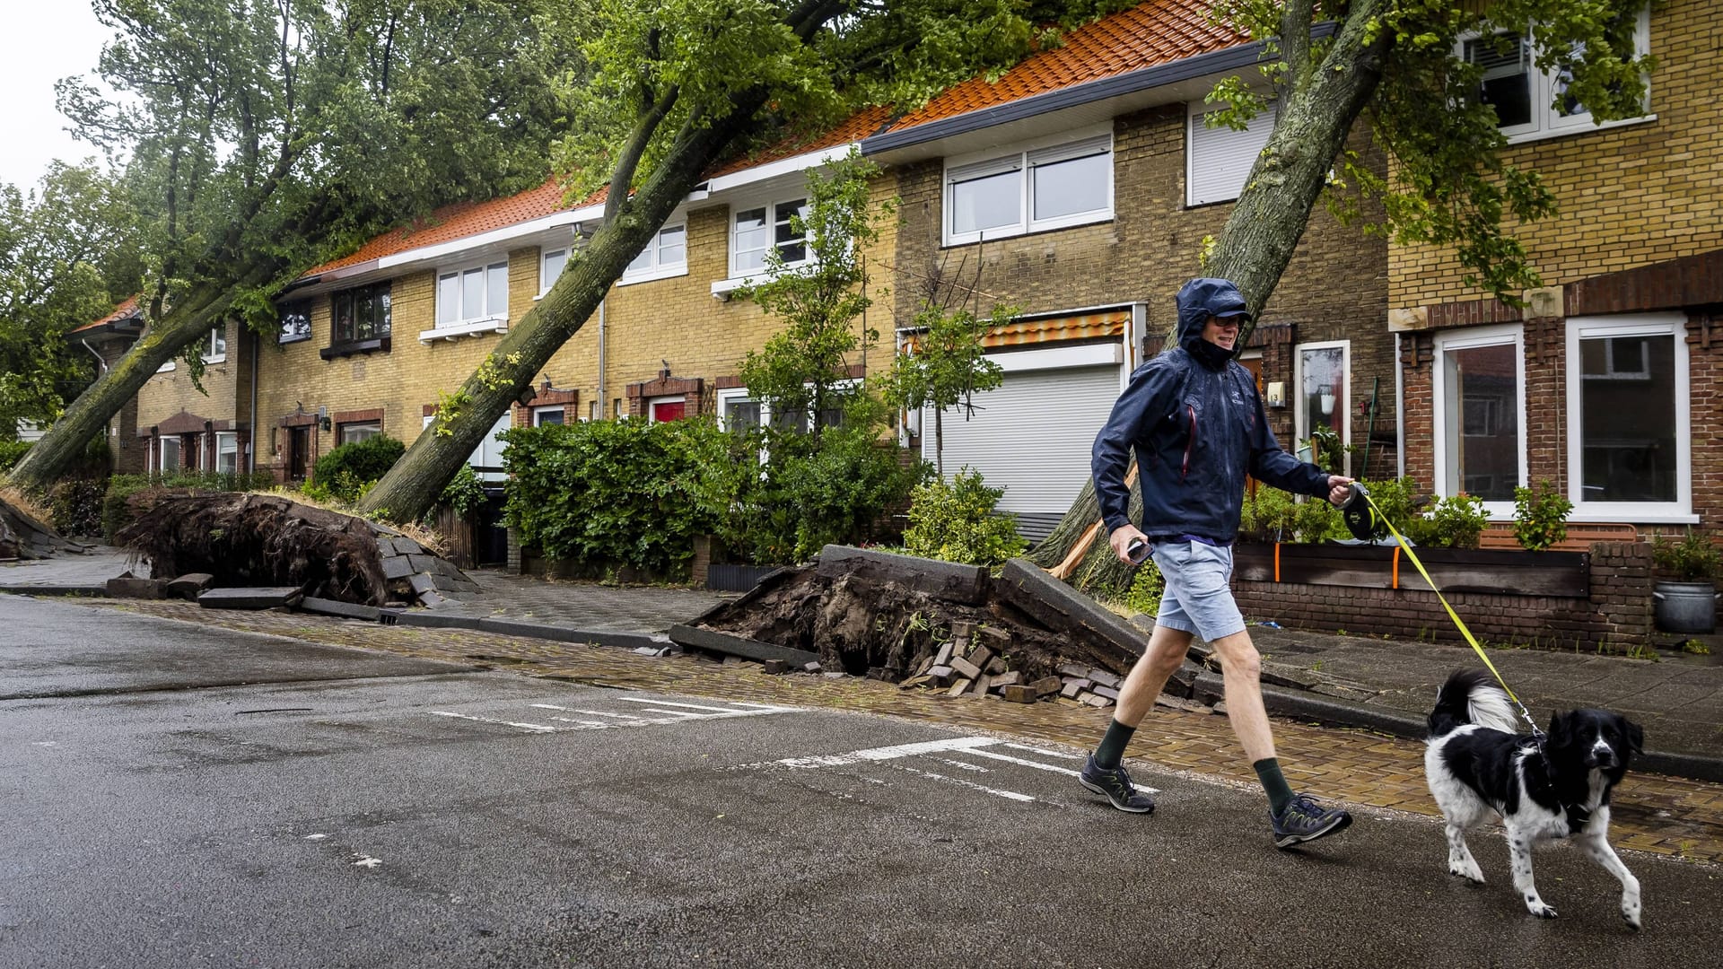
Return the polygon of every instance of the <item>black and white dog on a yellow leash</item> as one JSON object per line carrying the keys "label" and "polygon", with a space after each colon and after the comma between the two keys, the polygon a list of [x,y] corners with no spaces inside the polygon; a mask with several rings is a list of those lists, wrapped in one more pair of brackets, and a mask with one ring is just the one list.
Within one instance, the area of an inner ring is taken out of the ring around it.
{"label": "black and white dog on a yellow leash", "polygon": [[1554,919],[1532,883],[1532,845],[1573,838],[1621,881],[1621,917],[1640,926],[1639,879],[1609,848],[1609,788],[1644,750],[1639,724],[1608,710],[1573,710],[1549,721],[1542,745],[1515,728],[1508,691],[1489,672],[1447,678],[1430,710],[1423,772],[1447,817],[1447,871],[1484,883],[1466,829],[1501,816],[1513,857],[1513,886],[1533,916]]}

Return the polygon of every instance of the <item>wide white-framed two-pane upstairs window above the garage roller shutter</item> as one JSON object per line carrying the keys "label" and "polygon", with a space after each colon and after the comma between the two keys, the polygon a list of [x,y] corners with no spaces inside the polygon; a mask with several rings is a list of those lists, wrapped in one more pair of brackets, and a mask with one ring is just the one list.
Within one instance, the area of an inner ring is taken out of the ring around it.
{"label": "wide white-framed two-pane upstairs window above the garage roller shutter", "polygon": [[948,162],[946,245],[1113,217],[1113,134]]}

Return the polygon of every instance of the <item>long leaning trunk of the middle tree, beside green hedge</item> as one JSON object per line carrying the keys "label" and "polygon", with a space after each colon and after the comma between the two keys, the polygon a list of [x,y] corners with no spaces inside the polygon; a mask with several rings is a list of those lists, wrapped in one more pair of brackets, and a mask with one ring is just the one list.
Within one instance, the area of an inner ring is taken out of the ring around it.
{"label": "long leaning trunk of the middle tree, beside green hedge", "polygon": [[[395,467],[360,500],[364,514],[395,521],[422,517],[443,486],[460,471],[491,426],[527,393],[551,355],[586,324],[610,284],[639,255],[679,202],[687,198],[701,172],[751,124],[758,102],[743,98],[731,114],[710,126],[686,128],[651,179],[620,214],[600,228],[579,250],[544,298],[538,302],[460,384],[460,412],[419,434]],[[484,371],[489,369],[489,374]]]}

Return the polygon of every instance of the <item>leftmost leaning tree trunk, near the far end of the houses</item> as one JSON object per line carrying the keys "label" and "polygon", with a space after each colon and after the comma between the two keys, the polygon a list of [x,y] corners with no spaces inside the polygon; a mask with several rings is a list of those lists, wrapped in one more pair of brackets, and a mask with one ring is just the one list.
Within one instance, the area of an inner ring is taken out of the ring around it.
{"label": "leftmost leaning tree trunk, near the far end of the houses", "polygon": [[65,414],[48,428],[10,472],[12,484],[43,491],[83,455],[90,438],[107,431],[107,422],[138,395],[157,369],[181,350],[208,338],[233,300],[234,290],[205,286],[183,297],[164,312],[105,374],[86,388]]}

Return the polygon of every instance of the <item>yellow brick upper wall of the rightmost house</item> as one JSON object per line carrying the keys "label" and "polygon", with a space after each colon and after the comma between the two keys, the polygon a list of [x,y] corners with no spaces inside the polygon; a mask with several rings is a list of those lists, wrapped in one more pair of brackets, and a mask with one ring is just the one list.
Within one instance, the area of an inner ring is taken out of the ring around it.
{"label": "yellow brick upper wall of the rightmost house", "polygon": [[[1509,147],[1504,159],[1542,174],[1559,214],[1511,224],[1547,286],[1723,247],[1723,17],[1713,0],[1668,0],[1651,12],[1656,121],[1583,128]],[[1394,247],[1389,305],[1473,300],[1451,252]]]}

